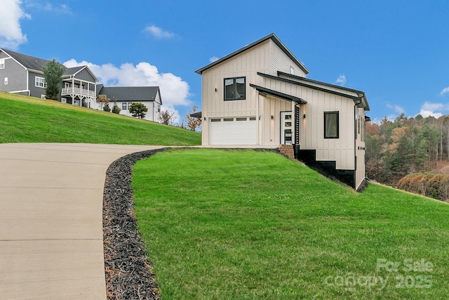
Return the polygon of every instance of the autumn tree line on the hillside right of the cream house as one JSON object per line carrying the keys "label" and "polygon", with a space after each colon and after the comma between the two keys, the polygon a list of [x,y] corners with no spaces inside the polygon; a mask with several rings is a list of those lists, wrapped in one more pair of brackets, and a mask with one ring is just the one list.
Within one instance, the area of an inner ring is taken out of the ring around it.
{"label": "autumn tree line on the hillside right of the cream house", "polygon": [[[393,121],[384,117],[379,123],[366,124],[366,176],[370,179],[398,186],[401,179],[417,173],[449,176],[449,170],[445,168],[448,160],[449,115],[424,118],[401,114]],[[413,192],[442,195],[443,192],[432,192],[422,185],[427,181],[429,186],[435,185],[435,178],[433,181],[431,178],[433,176],[409,178],[413,182]],[[420,181],[420,187],[417,187],[417,181]],[[408,190],[411,185],[406,182],[408,179],[403,179],[398,187]],[[445,179],[439,176],[438,182],[445,182]]]}

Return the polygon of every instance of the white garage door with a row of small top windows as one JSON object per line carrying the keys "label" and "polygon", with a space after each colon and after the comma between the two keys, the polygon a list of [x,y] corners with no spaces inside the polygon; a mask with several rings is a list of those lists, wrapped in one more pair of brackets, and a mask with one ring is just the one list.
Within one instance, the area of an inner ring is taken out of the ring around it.
{"label": "white garage door with a row of small top windows", "polygon": [[209,145],[255,145],[255,117],[212,118]]}

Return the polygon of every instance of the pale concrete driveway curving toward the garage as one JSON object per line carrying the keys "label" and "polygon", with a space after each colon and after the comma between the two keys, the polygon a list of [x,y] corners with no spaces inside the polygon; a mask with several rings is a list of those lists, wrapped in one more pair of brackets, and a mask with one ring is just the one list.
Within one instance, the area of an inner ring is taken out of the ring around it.
{"label": "pale concrete driveway curving toward the garage", "polygon": [[0,144],[0,299],[106,299],[105,173],[156,148]]}

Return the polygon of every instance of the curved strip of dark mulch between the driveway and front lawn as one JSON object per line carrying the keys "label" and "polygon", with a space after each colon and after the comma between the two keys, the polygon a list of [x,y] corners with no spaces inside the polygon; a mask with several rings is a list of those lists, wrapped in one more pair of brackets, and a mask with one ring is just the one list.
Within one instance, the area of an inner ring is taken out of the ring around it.
{"label": "curved strip of dark mulch between the driveway and front lawn", "polygon": [[107,299],[159,299],[145,245],[135,219],[132,167],[161,150],[121,157],[106,173],[103,193],[103,245]]}

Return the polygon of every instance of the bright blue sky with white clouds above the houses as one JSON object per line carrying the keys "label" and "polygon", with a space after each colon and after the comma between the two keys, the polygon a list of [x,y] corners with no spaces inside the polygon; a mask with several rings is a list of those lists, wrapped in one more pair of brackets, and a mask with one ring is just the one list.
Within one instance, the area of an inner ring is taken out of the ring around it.
{"label": "bright blue sky with white clouds above the houses", "polygon": [[159,85],[182,119],[201,107],[194,71],[274,32],[307,78],[366,92],[378,121],[449,114],[446,1],[1,0],[0,47],[102,83]]}

